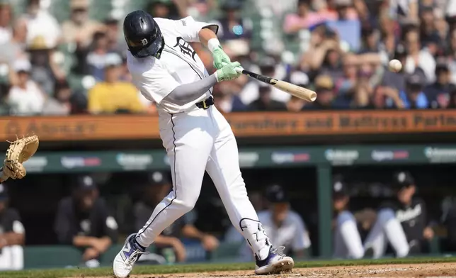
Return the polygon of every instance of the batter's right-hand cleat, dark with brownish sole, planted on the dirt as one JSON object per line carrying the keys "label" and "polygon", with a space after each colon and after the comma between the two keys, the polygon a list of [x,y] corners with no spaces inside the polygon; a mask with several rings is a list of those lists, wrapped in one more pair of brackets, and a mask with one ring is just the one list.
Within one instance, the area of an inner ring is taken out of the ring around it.
{"label": "batter's right-hand cleat, dark with brownish sole, planted on the dirt", "polygon": [[290,271],[295,262],[291,257],[283,253],[285,247],[270,248],[269,255],[265,260],[256,259],[255,274],[280,274],[281,272]]}

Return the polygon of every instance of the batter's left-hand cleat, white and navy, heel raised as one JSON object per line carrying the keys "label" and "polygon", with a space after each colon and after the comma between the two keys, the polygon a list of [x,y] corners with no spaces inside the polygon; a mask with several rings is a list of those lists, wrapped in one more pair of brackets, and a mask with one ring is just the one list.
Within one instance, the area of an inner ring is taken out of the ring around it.
{"label": "batter's left-hand cleat, white and navy, heel raised", "polygon": [[142,254],[147,254],[146,249],[140,246],[135,238],[136,233],[129,235],[122,250],[114,258],[113,271],[117,278],[128,277],[139,257]]}

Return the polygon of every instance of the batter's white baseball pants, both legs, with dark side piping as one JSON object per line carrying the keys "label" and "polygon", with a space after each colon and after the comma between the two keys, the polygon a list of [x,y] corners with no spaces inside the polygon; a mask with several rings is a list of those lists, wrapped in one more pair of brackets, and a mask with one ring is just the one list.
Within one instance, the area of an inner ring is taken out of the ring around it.
{"label": "batter's white baseball pants, both legs, with dark side piping", "polygon": [[207,171],[234,227],[260,260],[266,258],[270,243],[247,196],[236,139],[224,116],[215,106],[173,115],[159,110],[159,126],[173,190],[139,230],[137,242],[144,247],[151,245],[162,230],[193,209]]}

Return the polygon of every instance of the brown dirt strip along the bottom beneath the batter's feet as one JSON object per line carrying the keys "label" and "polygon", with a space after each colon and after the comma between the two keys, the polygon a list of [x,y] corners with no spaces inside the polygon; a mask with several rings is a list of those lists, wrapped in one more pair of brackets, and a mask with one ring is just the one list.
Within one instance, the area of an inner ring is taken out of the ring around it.
{"label": "brown dirt strip along the bottom beneath the batter's feet", "polygon": [[[147,274],[135,275],[130,278],[183,278],[183,277],[200,277],[200,278],[244,278],[253,277],[253,271],[235,271],[235,272],[200,272],[188,274]],[[258,276],[256,276],[258,277]],[[363,265],[348,267],[309,267],[294,269],[291,273],[268,275],[263,277],[455,277],[456,263],[429,263],[429,264],[401,264],[401,265]],[[71,278],[96,278],[96,277],[71,277]],[[113,277],[97,277],[113,278]]]}

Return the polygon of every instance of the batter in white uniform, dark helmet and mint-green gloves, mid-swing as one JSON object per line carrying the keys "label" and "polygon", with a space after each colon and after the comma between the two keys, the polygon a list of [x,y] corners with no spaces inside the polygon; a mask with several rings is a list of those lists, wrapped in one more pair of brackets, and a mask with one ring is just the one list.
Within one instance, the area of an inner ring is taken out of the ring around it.
{"label": "batter in white uniform, dark helmet and mint-green gloves, mid-swing", "polygon": [[[156,103],[160,136],[171,165],[173,190],[156,206],[149,221],[125,240],[115,257],[116,277],[127,277],[157,235],[195,206],[205,171],[220,194],[232,224],[249,243],[256,258],[256,274],[279,273],[294,266],[273,248],[247,196],[239,169],[236,139],[222,114],[213,106],[212,87],[234,79],[239,62],[231,62],[217,40],[218,26],[152,18],[133,11],[124,20],[129,47],[127,66],[141,93]],[[189,42],[207,46],[217,72],[207,70]]]}

